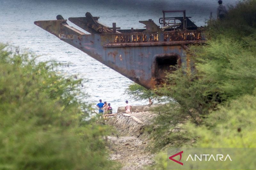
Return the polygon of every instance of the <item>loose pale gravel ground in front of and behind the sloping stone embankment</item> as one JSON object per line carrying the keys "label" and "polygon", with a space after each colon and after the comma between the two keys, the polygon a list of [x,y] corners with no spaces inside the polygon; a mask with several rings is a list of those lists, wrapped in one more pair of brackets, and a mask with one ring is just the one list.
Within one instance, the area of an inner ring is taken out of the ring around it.
{"label": "loose pale gravel ground in front of and behind the sloping stone embankment", "polygon": [[[150,124],[156,116],[150,111],[132,112],[130,115],[137,117],[142,122]],[[150,153],[147,144],[148,141],[137,137],[109,136],[110,141],[110,159],[122,163],[122,170],[140,170],[154,163],[154,154]]]}

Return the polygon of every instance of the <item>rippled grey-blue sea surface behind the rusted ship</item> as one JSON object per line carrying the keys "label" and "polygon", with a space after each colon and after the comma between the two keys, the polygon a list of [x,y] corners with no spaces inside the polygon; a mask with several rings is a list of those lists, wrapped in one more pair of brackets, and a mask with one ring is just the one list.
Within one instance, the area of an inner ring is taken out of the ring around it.
{"label": "rippled grey-blue sea surface behind the rusted ship", "polygon": [[[186,15],[197,26],[204,26],[210,12],[216,17],[218,0],[0,0],[0,42],[19,47],[39,55],[39,61],[56,60],[66,63],[59,70],[67,76],[83,78],[82,96],[86,102],[96,103],[99,99],[111,103],[113,111],[124,106],[125,100],[132,105],[148,104],[148,101],[135,101],[124,94],[131,80],[96,61],[77,48],[61,41],[56,36],[34,25],[36,20],[52,20],[61,14],[64,19],[84,17],[86,12],[100,17],[99,22],[121,29],[143,28],[140,20],[152,19],[159,25],[162,10],[186,10]],[[223,0],[227,7],[236,0]],[[172,16],[180,16],[175,14]],[[68,21],[70,26],[81,30]],[[81,30],[85,32],[84,30]],[[85,32],[87,33],[87,32]],[[69,67],[67,67],[69,63]],[[96,108],[96,107],[95,107]]]}

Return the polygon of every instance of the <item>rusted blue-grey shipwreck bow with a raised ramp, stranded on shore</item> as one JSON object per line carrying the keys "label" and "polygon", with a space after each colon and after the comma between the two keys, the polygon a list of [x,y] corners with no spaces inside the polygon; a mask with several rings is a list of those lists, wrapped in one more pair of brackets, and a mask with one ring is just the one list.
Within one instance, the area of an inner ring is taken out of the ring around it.
{"label": "rusted blue-grey shipwreck bow with a raised ramp, stranded on shore", "polygon": [[[170,12],[180,12],[183,16],[166,17]],[[190,67],[187,45],[205,41],[186,11],[163,11],[163,17],[159,18],[161,26],[151,19],[139,21],[145,29],[124,30],[116,27],[116,23],[108,27],[99,18],[89,12],[85,17],[68,18],[91,34],[69,26],[61,15],[57,20],[35,21],[35,24],[148,89],[159,84],[166,71],[173,71],[170,66]]]}

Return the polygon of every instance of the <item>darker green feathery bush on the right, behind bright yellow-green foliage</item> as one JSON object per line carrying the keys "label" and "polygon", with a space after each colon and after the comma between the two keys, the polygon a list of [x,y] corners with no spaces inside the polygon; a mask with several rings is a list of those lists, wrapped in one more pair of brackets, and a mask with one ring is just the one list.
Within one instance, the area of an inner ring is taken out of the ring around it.
{"label": "darker green feathery bush on the right, behind bright yellow-green foliage", "polygon": [[[166,102],[170,102],[156,110],[159,116],[151,127],[151,137],[157,139],[154,140],[156,149],[191,145],[196,136],[189,135],[182,124],[191,122],[199,128],[219,105],[253,94],[256,86],[255,4],[255,0],[243,1],[231,9],[225,21],[209,22],[205,30],[207,44],[191,46],[188,51],[196,63],[195,73],[180,68],[168,74],[166,83],[156,89],[157,94],[166,96]],[[234,24],[236,17],[246,18],[245,9],[252,18]],[[246,33],[239,30],[239,26],[246,27]]]}

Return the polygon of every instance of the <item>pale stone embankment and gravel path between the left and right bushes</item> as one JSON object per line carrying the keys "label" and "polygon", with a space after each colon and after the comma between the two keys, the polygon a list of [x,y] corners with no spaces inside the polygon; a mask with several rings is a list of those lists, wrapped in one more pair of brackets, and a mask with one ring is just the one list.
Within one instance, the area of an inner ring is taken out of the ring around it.
{"label": "pale stone embankment and gravel path between the left and right bushes", "polygon": [[117,134],[108,137],[110,141],[110,159],[122,163],[122,170],[140,170],[154,163],[154,154],[147,148],[148,140],[141,135],[144,127],[150,124],[156,114],[150,110],[155,106],[134,106],[132,113],[126,114],[124,107],[118,108],[118,114],[105,116]]}

